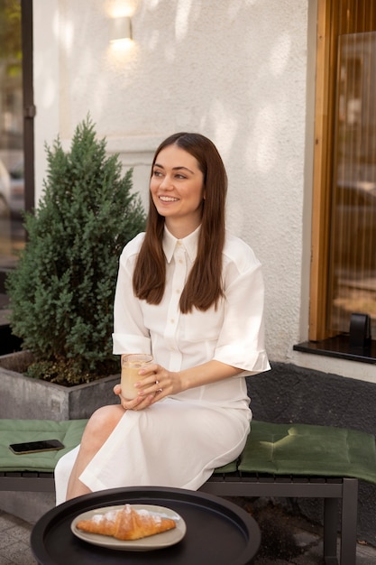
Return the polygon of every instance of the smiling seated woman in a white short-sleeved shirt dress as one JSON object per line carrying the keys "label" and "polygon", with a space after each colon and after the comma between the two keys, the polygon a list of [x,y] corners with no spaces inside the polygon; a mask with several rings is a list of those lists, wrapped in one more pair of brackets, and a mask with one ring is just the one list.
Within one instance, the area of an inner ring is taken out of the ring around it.
{"label": "smiling seated woman in a white short-sleeved shirt dress", "polygon": [[[118,486],[197,489],[245,445],[245,375],[270,369],[261,265],[225,231],[225,166],[201,134],[174,134],[151,166],[145,234],[125,246],[114,353],[151,353],[138,395],[97,410],[56,469],[57,503]],[[69,477],[70,473],[70,477]],[[67,490],[67,480],[69,485]]]}

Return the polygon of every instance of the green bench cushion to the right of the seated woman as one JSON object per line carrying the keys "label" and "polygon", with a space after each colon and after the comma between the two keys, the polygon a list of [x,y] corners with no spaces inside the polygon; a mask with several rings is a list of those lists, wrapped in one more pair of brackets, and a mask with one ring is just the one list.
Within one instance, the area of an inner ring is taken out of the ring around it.
{"label": "green bench cushion to the right of the seated woman", "polygon": [[238,469],[273,475],[356,477],[376,484],[375,438],[343,428],[252,421]]}

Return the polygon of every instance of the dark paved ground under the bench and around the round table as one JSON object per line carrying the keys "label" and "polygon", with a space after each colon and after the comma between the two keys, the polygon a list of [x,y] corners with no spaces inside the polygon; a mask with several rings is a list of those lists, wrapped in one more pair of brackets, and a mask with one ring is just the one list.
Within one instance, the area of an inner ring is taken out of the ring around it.
{"label": "dark paved ground under the bench and around the round table", "polygon": [[[276,507],[260,514],[258,521],[262,542],[254,565],[322,565],[321,528]],[[1,565],[36,564],[30,549],[31,532],[32,524],[0,510]],[[358,543],[356,565],[375,563],[376,548]]]}

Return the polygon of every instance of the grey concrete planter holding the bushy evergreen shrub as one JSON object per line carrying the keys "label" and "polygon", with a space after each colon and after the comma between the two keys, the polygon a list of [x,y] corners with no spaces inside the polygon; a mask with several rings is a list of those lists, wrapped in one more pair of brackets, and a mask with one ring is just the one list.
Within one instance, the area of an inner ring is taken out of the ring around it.
{"label": "grey concrete planter holding the bushy evergreen shrub", "polygon": [[66,387],[24,376],[29,361],[25,351],[0,357],[0,418],[75,420],[118,403],[113,388],[120,375]]}

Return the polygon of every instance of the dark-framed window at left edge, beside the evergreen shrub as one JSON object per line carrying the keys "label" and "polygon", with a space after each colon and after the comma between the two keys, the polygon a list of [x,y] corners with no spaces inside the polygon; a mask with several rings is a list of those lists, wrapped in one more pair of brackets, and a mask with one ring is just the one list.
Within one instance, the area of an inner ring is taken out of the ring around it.
{"label": "dark-framed window at left edge, beside the evergreen shrub", "polygon": [[0,0],[0,293],[33,207],[32,1]]}

